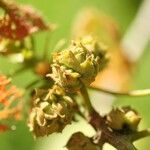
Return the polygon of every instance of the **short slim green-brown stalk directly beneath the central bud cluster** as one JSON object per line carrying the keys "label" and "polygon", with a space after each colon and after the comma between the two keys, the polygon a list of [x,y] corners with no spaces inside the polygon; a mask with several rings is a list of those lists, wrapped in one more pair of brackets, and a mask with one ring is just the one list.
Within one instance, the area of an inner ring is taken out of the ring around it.
{"label": "short slim green-brown stalk directly beneath the central bud cluster", "polygon": [[92,113],[94,111],[94,109],[92,107],[92,104],[91,104],[91,101],[89,98],[89,94],[88,94],[87,89],[86,89],[84,84],[82,85],[82,88],[80,89],[80,93],[83,97],[83,100],[84,100],[84,103],[87,107],[87,110],[89,111],[89,113]]}

